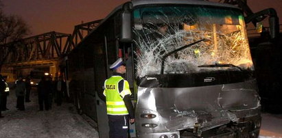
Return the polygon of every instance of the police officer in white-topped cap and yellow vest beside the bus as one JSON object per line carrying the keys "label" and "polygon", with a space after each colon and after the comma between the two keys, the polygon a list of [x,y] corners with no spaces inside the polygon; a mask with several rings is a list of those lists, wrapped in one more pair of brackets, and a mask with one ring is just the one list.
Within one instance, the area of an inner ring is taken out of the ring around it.
{"label": "police officer in white-topped cap and yellow vest beside the bus", "polygon": [[104,96],[108,114],[109,136],[128,137],[128,118],[134,123],[134,109],[130,100],[128,81],[122,74],[126,73],[126,67],[121,58],[110,66],[114,74],[104,82]]}

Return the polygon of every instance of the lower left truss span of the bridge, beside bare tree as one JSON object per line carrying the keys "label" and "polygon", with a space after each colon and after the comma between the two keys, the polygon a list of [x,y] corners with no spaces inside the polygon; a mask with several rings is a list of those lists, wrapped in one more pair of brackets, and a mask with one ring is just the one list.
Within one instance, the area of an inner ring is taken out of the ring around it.
{"label": "lower left truss span of the bridge, beside bare tree", "polygon": [[5,66],[12,66],[22,62],[59,59],[66,53],[63,48],[70,44],[70,37],[71,35],[67,33],[51,31],[10,42],[7,44],[10,53],[4,64]]}

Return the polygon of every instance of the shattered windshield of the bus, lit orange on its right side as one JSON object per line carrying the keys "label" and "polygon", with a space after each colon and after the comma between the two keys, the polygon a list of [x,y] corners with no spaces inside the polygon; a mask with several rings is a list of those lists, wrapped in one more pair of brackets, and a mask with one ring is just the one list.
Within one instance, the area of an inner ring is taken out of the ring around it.
{"label": "shattered windshield of the bus, lit orange on its right side", "polygon": [[252,70],[244,25],[242,13],[234,9],[138,8],[134,10],[137,76],[161,74],[162,61],[164,74],[238,70],[235,66]]}

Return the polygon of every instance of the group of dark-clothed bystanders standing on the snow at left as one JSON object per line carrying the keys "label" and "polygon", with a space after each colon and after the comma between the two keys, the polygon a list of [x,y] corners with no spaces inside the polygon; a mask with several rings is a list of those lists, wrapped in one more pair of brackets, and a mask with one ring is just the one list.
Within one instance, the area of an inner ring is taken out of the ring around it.
{"label": "group of dark-clothed bystanders standing on the snow at left", "polygon": [[[7,108],[7,96],[10,89],[5,81],[5,78],[0,74],[0,118],[3,118],[1,111],[9,110]],[[19,111],[25,111],[25,102],[31,102],[32,85],[30,77],[25,78],[25,80],[23,77],[18,77],[12,88],[14,88],[16,94],[16,108]],[[65,88],[66,84],[62,81],[62,77],[59,77],[56,81],[51,81],[49,76],[42,77],[37,86],[39,111],[43,111],[44,107],[45,110],[51,109],[53,97],[56,97],[55,101],[58,106],[62,105]]]}

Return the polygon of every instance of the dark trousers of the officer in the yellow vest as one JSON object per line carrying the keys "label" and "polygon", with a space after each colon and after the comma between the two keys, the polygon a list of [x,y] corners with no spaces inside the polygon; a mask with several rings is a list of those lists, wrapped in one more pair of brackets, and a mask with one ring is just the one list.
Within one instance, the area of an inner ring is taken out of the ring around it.
{"label": "dark trousers of the officer in the yellow vest", "polygon": [[128,115],[108,115],[108,126],[110,138],[128,137]]}

